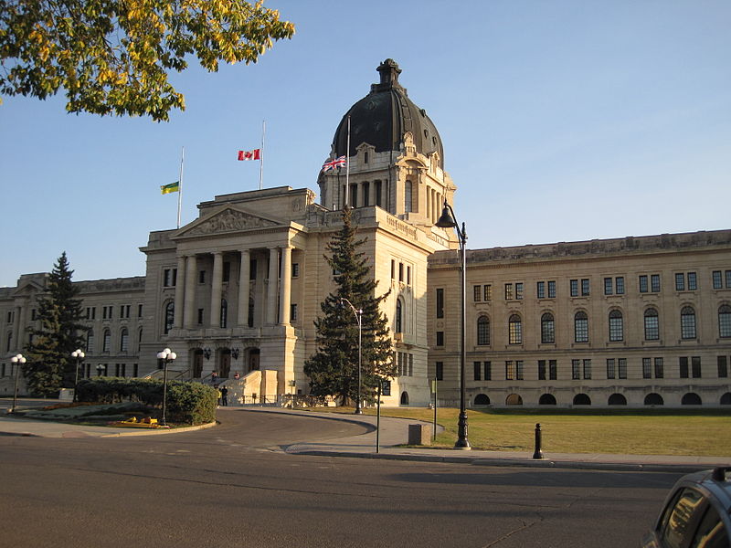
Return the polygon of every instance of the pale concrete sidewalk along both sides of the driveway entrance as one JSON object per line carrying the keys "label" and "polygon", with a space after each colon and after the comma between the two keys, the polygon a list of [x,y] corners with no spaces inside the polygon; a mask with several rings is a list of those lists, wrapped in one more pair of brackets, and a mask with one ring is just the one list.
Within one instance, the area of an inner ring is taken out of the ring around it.
{"label": "pale concrete sidewalk along both sides of the driveway entrance", "polygon": [[[376,453],[376,416],[341,415],[338,413],[317,413],[292,411],[281,408],[228,407],[243,413],[286,413],[289,415],[318,417],[326,420],[341,420],[363,424],[370,431],[355,437],[313,440],[285,448],[292,455],[317,455],[349,458],[387,458],[397,460],[451,462],[475,466],[510,466],[556,469],[595,469],[620,471],[662,471],[689,473],[715,466],[731,466],[731,457],[691,457],[670,455],[612,455],[596,453],[546,453],[544,458],[533,458],[533,452],[482,451],[431,448],[398,448],[408,442],[408,425],[418,421],[402,418],[381,417],[379,452]],[[176,434],[212,427],[175,428],[174,430],[131,430],[115,427],[87,427],[48,421],[0,416],[0,436],[34,437],[119,437]]]}

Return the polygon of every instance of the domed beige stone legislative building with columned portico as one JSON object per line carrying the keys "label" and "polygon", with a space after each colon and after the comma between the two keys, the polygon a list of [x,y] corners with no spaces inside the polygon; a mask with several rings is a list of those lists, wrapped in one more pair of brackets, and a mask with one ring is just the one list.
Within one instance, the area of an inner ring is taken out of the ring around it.
{"label": "domed beige stone legislative building with columned portico", "polygon": [[[344,169],[310,189],[217,195],[193,222],[150,234],[143,277],[79,281],[90,327],[83,376],[159,375],[226,383],[234,403],[306,395],[313,321],[334,290],[323,254],[353,209],[365,257],[390,290],[398,376],[387,406],[440,405],[460,389],[460,265],[435,225],[457,187],[440,134],[397,64],[338,125]],[[348,148],[348,118],[350,147]],[[37,325],[48,275],[0,288],[0,394]],[[731,406],[731,230],[467,250],[470,406]],[[355,319],[354,319],[355,321]]]}

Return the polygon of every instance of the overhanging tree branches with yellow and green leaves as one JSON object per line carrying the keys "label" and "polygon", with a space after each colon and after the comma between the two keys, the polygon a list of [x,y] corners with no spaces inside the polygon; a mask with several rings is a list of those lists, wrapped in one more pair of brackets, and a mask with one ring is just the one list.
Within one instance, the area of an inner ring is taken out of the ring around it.
{"label": "overhanging tree branches with yellow and green leaves", "polygon": [[0,0],[0,93],[166,121],[185,109],[168,74],[192,56],[249,64],[293,34],[263,0]]}

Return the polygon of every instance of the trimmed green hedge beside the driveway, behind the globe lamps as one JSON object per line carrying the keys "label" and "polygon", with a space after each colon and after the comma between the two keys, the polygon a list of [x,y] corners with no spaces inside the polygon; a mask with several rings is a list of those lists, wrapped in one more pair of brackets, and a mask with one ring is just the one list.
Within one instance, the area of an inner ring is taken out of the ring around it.
{"label": "trimmed green hedge beside the driveway, behind the globe lamps", "polygon": [[[140,402],[146,406],[163,405],[163,382],[154,379],[92,377],[79,380],[79,402],[114,404]],[[168,422],[200,425],[216,420],[218,394],[215,388],[184,381],[167,382]]]}

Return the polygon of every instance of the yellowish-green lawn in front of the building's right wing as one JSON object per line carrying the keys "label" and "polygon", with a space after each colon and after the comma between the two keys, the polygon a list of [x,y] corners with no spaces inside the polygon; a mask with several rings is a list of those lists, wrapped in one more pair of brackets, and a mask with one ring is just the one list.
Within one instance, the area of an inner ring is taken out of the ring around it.
{"label": "yellowish-green lawn in front of the building's right wing", "polygon": [[[352,408],[325,410],[353,412]],[[365,414],[376,411],[368,408]],[[438,410],[437,422],[446,430],[432,447],[454,446],[458,414],[455,408]],[[431,422],[434,411],[381,408],[381,415]],[[731,456],[731,409],[486,409],[469,410],[467,417],[468,439],[475,449],[532,452],[535,424],[540,423],[545,453]]]}

